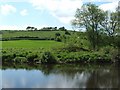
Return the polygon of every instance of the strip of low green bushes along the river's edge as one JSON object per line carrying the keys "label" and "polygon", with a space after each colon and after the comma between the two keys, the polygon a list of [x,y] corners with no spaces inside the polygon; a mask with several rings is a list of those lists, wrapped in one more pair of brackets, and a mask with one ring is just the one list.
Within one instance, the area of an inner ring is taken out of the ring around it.
{"label": "strip of low green bushes along the river's edge", "polygon": [[[118,57],[118,59],[117,59]],[[119,62],[119,56],[100,51],[68,52],[61,50],[7,48],[2,50],[2,62],[9,63],[114,63]]]}

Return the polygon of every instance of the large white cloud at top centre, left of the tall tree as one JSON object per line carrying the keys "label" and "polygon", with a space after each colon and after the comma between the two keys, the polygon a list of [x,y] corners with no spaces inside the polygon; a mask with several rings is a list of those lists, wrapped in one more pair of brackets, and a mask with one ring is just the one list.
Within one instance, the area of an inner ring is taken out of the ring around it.
{"label": "large white cloud at top centre, left of the tall tree", "polygon": [[30,0],[30,3],[35,9],[48,10],[51,15],[65,24],[71,21],[76,9],[82,6],[82,0]]}

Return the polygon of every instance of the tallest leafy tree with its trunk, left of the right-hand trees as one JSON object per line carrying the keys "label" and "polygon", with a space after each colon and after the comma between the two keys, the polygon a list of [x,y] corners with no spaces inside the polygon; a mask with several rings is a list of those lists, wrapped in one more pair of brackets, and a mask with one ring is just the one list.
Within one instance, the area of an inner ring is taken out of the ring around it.
{"label": "tallest leafy tree with its trunk, left of the right-hand trees", "polygon": [[104,20],[105,13],[95,4],[84,4],[81,9],[77,9],[72,25],[77,28],[86,28],[88,40],[96,50],[99,46],[100,23]]}

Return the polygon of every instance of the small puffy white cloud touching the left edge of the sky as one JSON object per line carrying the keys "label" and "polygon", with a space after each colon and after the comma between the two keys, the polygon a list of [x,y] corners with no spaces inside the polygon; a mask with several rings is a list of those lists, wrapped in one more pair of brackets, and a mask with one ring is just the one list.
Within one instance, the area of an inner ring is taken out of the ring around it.
{"label": "small puffy white cloud touching the left edge of the sky", "polygon": [[15,13],[16,8],[12,5],[5,4],[0,6],[0,13],[2,15],[9,15],[10,13]]}

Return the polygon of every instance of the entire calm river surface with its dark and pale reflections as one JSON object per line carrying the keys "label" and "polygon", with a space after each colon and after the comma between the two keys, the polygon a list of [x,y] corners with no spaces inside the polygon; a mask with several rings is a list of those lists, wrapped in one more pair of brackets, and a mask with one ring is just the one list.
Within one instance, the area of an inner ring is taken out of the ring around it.
{"label": "entire calm river surface with its dark and pale reflections", "polygon": [[3,65],[2,88],[120,88],[114,64]]}

